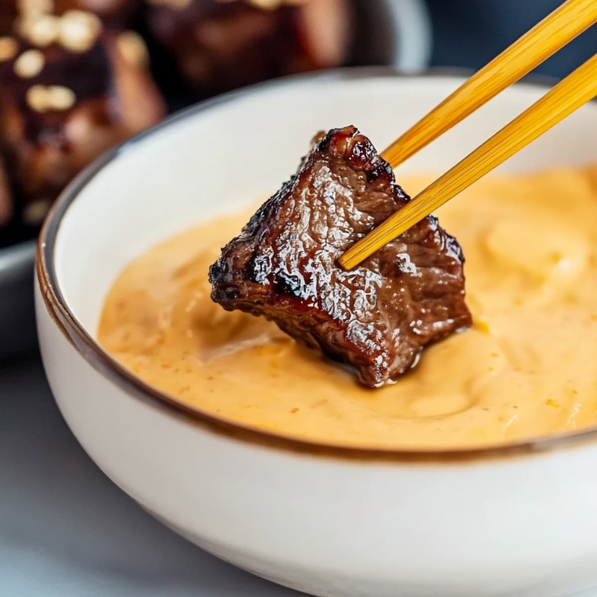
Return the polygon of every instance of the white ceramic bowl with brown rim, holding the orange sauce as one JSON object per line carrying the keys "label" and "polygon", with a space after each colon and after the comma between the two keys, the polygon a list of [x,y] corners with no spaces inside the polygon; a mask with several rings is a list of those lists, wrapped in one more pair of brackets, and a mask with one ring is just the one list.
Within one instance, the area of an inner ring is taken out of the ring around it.
{"label": "white ceramic bowl with brown rim, holding the orange sauce", "polygon": [[[94,341],[102,301],[157,241],[275,190],[315,131],[353,123],[383,147],[460,81],[343,71],[209,101],[87,170],[41,235],[42,355],[85,450],[183,536],[315,595],[555,597],[597,584],[597,431],[447,453],[292,441],[186,410],[127,373]],[[447,168],[543,93],[517,85],[404,170]],[[595,130],[590,104],[504,168],[595,161]]]}

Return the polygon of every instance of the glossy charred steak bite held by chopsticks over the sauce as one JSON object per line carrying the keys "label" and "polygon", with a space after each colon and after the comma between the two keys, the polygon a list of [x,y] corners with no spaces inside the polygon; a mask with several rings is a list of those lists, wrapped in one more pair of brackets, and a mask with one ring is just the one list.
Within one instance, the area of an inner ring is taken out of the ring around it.
{"label": "glossy charred steak bite held by chopsticks over the sauce", "polygon": [[210,268],[211,298],[275,321],[380,386],[471,323],[463,255],[429,216],[350,272],[338,257],[410,199],[355,127],[319,134]]}

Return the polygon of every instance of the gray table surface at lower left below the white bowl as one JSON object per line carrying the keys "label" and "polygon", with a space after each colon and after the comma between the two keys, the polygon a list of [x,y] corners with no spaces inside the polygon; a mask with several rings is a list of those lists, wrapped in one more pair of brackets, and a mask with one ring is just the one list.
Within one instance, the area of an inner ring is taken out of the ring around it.
{"label": "gray table surface at lower left below the white bowl", "polygon": [[37,355],[0,365],[0,596],[292,597],[151,518],[84,453]]}

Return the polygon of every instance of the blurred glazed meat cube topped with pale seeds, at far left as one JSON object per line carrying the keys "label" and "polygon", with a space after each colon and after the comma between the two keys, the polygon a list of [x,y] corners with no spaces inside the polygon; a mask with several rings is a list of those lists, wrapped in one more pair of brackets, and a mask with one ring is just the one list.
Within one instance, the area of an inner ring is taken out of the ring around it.
{"label": "blurred glazed meat cube topped with pale seeds, at far left", "polygon": [[37,226],[82,168],[165,107],[136,33],[81,11],[27,19],[0,63],[0,144],[22,220]]}

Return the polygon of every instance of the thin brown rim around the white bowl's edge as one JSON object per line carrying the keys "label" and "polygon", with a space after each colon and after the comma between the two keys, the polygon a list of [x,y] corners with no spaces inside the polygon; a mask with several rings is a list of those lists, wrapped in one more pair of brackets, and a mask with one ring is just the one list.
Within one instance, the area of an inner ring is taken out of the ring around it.
{"label": "thin brown rim around the white bowl's edge", "polygon": [[[215,97],[196,104],[195,106],[181,110],[181,112],[166,119],[156,127],[151,128],[130,141],[112,150],[84,170],[60,195],[59,200],[51,210],[47,220],[42,227],[38,241],[36,272],[41,288],[41,294],[53,321],[60,328],[67,340],[75,347],[81,356],[87,360],[99,373],[124,389],[129,395],[141,399],[152,407],[168,412],[172,416],[178,416],[186,421],[208,427],[213,432],[229,436],[250,444],[257,444],[270,448],[278,448],[295,453],[303,453],[317,456],[328,456],[344,458],[349,460],[374,460],[391,461],[400,463],[463,463],[475,460],[488,460],[503,457],[528,456],[531,454],[544,453],[556,448],[574,447],[588,441],[597,440],[597,427],[591,427],[580,432],[561,433],[546,438],[533,439],[530,441],[518,442],[501,446],[490,445],[488,447],[451,449],[451,450],[394,450],[384,448],[359,448],[344,447],[341,445],[324,444],[315,441],[297,439],[275,432],[257,429],[257,427],[245,426],[235,421],[217,417],[214,414],[202,411],[199,408],[185,405],[173,396],[159,392],[133,373],[122,367],[108,353],[106,353],[97,342],[85,331],[78,322],[75,315],[67,306],[66,300],[60,290],[54,268],[54,247],[56,244],[57,232],[61,220],[69,206],[75,201],[82,189],[96,176],[99,171],[109,164],[120,153],[134,148],[145,137],[154,134],[162,128],[168,127],[189,116],[194,116],[214,106],[234,101],[236,98],[251,93],[253,90],[272,89],[284,85],[291,85],[296,81],[341,81],[347,79],[368,79],[376,77],[388,78],[430,78],[434,76],[466,76],[468,72],[457,69],[434,69],[420,75],[403,75],[391,67],[358,67],[352,69],[338,69],[322,73],[310,73],[296,75],[251,85],[239,91],[232,91],[222,96]],[[528,79],[525,79],[528,84]],[[531,85],[535,87],[548,87],[549,79],[531,79]]]}

